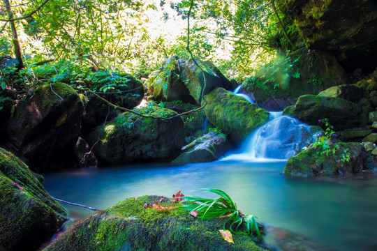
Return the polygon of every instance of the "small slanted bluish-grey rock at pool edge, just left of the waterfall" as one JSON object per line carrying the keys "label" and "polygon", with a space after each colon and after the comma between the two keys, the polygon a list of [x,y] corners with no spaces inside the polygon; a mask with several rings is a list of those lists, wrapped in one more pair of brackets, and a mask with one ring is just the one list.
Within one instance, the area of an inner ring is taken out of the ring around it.
{"label": "small slanted bluish-grey rock at pool edge, just left of the waterfall", "polygon": [[182,148],[183,153],[173,163],[211,162],[218,160],[230,149],[226,135],[209,132]]}

